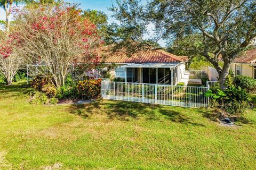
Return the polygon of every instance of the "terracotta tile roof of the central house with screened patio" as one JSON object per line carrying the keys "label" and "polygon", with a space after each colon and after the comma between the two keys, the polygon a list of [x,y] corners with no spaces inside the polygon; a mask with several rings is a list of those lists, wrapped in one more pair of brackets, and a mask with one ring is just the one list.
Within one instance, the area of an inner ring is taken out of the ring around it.
{"label": "terracotta tile roof of the central house with screened patio", "polygon": [[185,62],[187,56],[176,56],[163,50],[145,50],[127,57],[122,52],[106,55],[105,63],[172,63]]}

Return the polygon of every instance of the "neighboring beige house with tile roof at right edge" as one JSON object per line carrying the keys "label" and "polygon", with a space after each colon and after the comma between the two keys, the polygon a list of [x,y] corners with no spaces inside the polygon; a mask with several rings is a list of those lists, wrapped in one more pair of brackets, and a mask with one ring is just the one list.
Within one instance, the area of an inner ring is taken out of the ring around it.
{"label": "neighboring beige house with tile roof at right edge", "polygon": [[256,79],[256,49],[249,50],[241,57],[235,58],[231,69],[235,75],[245,75]]}

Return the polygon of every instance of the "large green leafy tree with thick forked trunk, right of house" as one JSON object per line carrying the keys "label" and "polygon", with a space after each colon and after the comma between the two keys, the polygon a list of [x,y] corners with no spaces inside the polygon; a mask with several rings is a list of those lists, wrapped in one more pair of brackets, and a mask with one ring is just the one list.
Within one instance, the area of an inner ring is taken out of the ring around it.
{"label": "large green leafy tree with thick forked trunk, right of house", "polygon": [[[212,63],[219,73],[222,90],[226,89],[225,80],[231,62],[256,37],[255,0],[152,0],[146,5],[137,0],[125,0],[117,1],[117,6],[110,10],[120,21],[113,26],[109,38],[116,47],[131,46],[129,40],[138,41],[140,47],[145,47],[143,33],[147,29],[145,25],[150,23],[155,26],[153,40],[179,39],[195,33],[201,35],[202,44],[194,48],[194,53]],[[220,55],[223,66],[218,63]]]}

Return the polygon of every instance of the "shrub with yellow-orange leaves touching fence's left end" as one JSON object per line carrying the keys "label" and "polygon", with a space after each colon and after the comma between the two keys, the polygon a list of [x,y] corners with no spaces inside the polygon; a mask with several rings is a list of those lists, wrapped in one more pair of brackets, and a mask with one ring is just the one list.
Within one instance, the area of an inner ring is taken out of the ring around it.
{"label": "shrub with yellow-orange leaves touching fence's left end", "polygon": [[97,98],[101,92],[101,79],[89,79],[79,81],[77,85],[77,94],[80,99],[90,100]]}

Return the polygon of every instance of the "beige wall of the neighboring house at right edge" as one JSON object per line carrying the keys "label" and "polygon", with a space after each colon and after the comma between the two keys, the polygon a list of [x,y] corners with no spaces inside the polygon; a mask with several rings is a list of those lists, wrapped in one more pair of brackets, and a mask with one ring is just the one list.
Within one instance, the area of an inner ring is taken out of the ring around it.
{"label": "beige wall of the neighboring house at right edge", "polygon": [[[235,75],[245,75],[254,78],[254,66],[245,63],[232,63],[231,69],[234,71]],[[239,71],[241,70],[241,71]]]}

